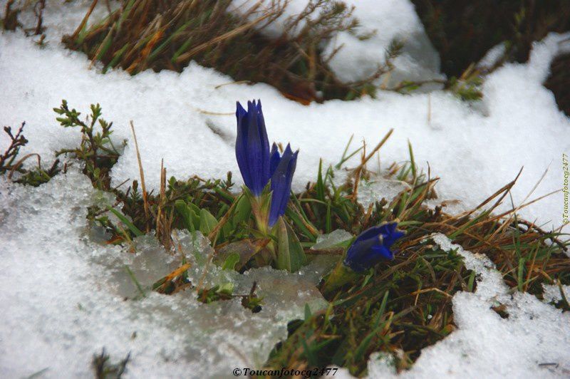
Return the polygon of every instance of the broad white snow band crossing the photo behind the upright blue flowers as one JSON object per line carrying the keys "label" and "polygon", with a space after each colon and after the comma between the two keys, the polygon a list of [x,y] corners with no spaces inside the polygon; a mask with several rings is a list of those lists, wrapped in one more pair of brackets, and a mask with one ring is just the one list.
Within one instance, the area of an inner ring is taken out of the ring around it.
{"label": "broad white snow band crossing the photo behind the upright blue flowers", "polygon": [[[338,162],[352,134],[352,148],[356,148],[361,140],[374,145],[389,128],[395,131],[380,150],[383,167],[408,159],[409,139],[418,165],[427,170],[429,162],[432,175],[441,178],[436,187],[440,197],[460,200],[463,209],[482,202],[521,167],[524,170],[512,190],[514,204],[522,203],[548,168],[531,199],[561,187],[559,161],[562,152],[570,151],[570,140],[564,138],[570,122],[541,82],[567,35],[551,34],[535,44],[529,63],[508,64],[490,75],[480,104],[462,103],[443,91],[414,95],[380,91],[378,99],[304,106],[265,84],[217,87],[232,83],[232,78],[195,63],[180,74],[146,71],[131,77],[113,71],[103,76],[98,69],[89,69],[83,54],[58,45],[58,33],[53,33],[45,48],[20,33],[1,35],[0,82],[5,95],[0,98],[0,122],[16,126],[26,120],[30,143],[23,152],[38,152],[48,162],[54,150],[77,145],[80,138],[76,130],[57,125],[51,108],[62,98],[81,111],[90,103],[100,103],[103,117],[114,122],[115,138],[129,142],[113,167],[115,185],[138,177],[129,120],[137,130],[151,189],[159,185],[162,158],[168,175],[180,178],[238,172],[232,143],[234,102],[261,98],[270,139],[301,149],[295,190],[315,179],[321,157],[325,163]],[[6,143],[6,137],[1,137],[0,147]],[[373,161],[369,168],[378,170]],[[239,175],[234,178],[239,181]],[[546,227],[559,227],[562,201],[557,193],[520,213]],[[501,210],[509,207],[504,204]]]}

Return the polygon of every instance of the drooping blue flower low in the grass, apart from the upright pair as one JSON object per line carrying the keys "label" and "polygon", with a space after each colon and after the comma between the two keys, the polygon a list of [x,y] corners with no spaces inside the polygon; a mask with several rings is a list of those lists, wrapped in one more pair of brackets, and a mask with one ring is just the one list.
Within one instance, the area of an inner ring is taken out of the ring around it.
{"label": "drooping blue flower low in the grass, apart from the upright pair", "polygon": [[398,224],[390,222],[371,227],[362,232],[346,251],[344,264],[353,271],[362,272],[378,264],[382,259],[393,259],[390,246],[404,235],[396,230]]}

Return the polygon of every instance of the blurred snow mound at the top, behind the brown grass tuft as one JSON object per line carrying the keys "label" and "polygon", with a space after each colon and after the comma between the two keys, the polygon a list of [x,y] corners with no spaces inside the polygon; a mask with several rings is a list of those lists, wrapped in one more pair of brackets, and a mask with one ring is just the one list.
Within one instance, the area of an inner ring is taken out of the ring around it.
{"label": "blurred snow mound at the top, behind the brown grass tuft", "polygon": [[[261,16],[274,1],[261,0],[260,9],[249,14],[253,20]],[[408,0],[343,0],[348,7],[354,6],[353,17],[358,20],[354,31],[341,31],[323,46],[323,55],[332,56],[328,62],[331,71],[344,82],[365,80],[385,63],[386,51],[393,41],[403,43],[400,56],[392,62],[395,69],[378,78],[378,83],[393,85],[400,81],[427,81],[445,78],[440,73],[440,56],[433,48]],[[233,0],[232,6],[242,14],[257,4],[252,0]],[[283,14],[272,24],[262,29],[270,38],[279,38],[284,32],[295,36],[304,22],[293,30],[285,30],[286,20],[297,16],[309,4],[309,0],[289,0]],[[314,14],[315,19],[318,15]],[[361,38],[366,36],[367,38]],[[340,50],[338,50],[340,48]],[[438,85],[440,86],[440,85]]]}

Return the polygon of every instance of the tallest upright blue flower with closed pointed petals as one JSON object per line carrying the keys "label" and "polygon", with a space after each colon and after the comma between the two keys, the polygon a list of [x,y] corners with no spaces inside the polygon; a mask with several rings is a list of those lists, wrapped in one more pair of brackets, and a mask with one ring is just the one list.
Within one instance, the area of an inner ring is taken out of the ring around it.
{"label": "tallest upright blue flower with closed pointed petals", "polygon": [[247,111],[237,102],[236,158],[245,185],[259,196],[269,182],[269,140],[261,101],[247,102]]}

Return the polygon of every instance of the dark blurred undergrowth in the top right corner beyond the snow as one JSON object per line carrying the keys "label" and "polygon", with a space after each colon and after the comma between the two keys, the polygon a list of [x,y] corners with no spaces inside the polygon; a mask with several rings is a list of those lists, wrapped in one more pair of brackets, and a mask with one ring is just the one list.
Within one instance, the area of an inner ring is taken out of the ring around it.
{"label": "dark blurred undergrowth in the top right corner beyond the snow", "polygon": [[[551,31],[570,30],[569,0],[411,1],[448,77],[461,76],[499,43],[506,46],[503,61],[526,62],[534,41]],[[570,115],[569,68],[570,54],[559,56],[545,83],[566,115]]]}

